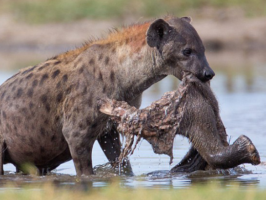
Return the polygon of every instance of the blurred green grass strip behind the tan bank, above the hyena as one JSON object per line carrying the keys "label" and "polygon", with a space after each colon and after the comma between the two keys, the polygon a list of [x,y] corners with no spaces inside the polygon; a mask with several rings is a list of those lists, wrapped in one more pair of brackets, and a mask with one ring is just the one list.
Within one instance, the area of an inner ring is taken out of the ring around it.
{"label": "blurred green grass strip behind the tan bank, above the hyena", "polygon": [[239,7],[246,16],[266,15],[265,0],[0,0],[0,5],[0,12],[30,23],[158,17],[167,12],[182,16],[201,13],[205,7]]}

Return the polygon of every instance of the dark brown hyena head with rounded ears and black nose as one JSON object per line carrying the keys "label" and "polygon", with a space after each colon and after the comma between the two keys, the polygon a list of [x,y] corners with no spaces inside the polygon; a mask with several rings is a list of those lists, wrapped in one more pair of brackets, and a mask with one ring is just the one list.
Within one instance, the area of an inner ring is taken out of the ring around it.
{"label": "dark brown hyena head with rounded ears and black nose", "polygon": [[156,47],[163,60],[162,74],[172,74],[182,79],[184,72],[191,72],[201,81],[209,81],[215,75],[205,57],[205,47],[191,18],[158,19],[146,32],[150,47]]}

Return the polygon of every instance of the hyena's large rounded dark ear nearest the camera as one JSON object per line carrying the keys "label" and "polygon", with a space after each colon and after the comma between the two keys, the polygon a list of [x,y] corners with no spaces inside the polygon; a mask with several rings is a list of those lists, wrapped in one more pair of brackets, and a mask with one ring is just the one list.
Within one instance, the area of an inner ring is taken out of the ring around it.
{"label": "hyena's large rounded dark ear nearest the camera", "polygon": [[152,22],[146,33],[146,41],[150,47],[159,47],[164,37],[170,29],[169,23],[163,19],[158,19]]}

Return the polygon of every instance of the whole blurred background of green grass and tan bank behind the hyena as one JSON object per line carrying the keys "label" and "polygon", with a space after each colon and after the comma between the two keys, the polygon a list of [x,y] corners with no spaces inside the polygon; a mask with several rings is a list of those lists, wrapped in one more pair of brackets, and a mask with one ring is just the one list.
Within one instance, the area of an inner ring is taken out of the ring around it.
{"label": "whole blurred background of green grass and tan bank behind the hyena", "polygon": [[192,17],[216,71],[250,74],[266,63],[266,0],[0,0],[0,69],[36,65],[110,27],[166,14]]}

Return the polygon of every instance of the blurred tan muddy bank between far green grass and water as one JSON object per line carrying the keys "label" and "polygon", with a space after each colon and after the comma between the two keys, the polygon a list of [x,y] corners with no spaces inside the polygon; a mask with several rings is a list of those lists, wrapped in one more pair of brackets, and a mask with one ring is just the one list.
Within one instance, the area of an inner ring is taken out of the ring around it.
{"label": "blurred tan muddy bank between far green grass and water", "polygon": [[[193,16],[192,16],[193,18]],[[60,52],[73,49],[90,38],[101,38],[108,29],[122,24],[144,21],[97,21],[84,19],[71,23],[26,24],[16,22],[11,16],[0,16],[0,69],[16,69],[35,65]],[[201,36],[208,58],[216,61],[223,52],[240,62],[246,54],[254,60],[265,62],[266,17],[250,18],[209,17],[193,18],[193,26]],[[225,53],[227,52],[227,53]],[[263,52],[263,53],[261,53]],[[234,55],[237,53],[237,55]]]}

